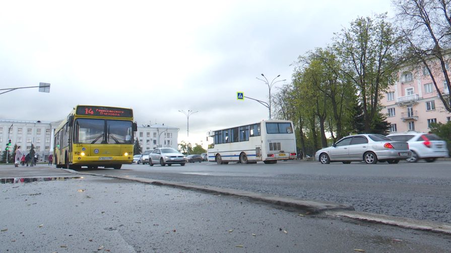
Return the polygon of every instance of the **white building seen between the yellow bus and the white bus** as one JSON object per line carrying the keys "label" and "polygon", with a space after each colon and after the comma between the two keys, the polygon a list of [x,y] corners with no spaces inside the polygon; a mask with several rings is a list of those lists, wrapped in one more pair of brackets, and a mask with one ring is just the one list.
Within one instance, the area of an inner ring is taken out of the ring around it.
{"label": "white building seen between the yellow bus and the white bus", "polygon": [[178,131],[180,128],[164,124],[138,126],[135,139],[140,142],[142,151],[157,147],[172,147],[178,149]]}

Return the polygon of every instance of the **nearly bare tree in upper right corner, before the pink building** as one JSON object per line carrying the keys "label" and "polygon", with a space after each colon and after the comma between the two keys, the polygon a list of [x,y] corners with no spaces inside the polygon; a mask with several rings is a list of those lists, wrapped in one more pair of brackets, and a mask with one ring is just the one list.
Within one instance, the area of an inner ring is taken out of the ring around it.
{"label": "nearly bare tree in upper right corner, before the pink building", "polygon": [[[449,0],[397,0],[397,24],[405,41],[406,59],[425,67],[445,109],[451,112],[451,100],[442,92],[441,78],[451,92],[448,64],[451,48],[451,2]],[[421,68],[420,68],[421,69]],[[444,88],[444,87],[443,87]]]}

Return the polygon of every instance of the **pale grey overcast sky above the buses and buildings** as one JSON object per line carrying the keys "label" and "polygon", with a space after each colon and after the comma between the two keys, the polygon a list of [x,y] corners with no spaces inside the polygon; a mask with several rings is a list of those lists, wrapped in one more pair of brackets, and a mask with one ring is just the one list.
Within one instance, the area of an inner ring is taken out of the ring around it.
{"label": "pale grey overcast sky above the buses and buildings", "polygon": [[[255,77],[291,80],[297,57],[331,43],[358,16],[390,0],[3,1],[0,89],[51,83],[50,93],[0,95],[0,118],[56,121],[75,105],[133,108],[138,124],[208,130],[268,118],[236,92],[268,100]],[[283,82],[276,85],[281,87]],[[272,92],[276,92],[273,88]]]}

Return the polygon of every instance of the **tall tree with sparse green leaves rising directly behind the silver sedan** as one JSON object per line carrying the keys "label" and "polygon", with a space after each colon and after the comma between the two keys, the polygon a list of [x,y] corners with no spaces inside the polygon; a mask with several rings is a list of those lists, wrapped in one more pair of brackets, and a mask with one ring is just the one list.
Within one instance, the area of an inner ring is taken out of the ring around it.
{"label": "tall tree with sparse green leaves rising directly behind the silver sedan", "polygon": [[382,93],[394,83],[401,44],[386,14],[357,18],[335,39],[341,71],[357,88],[365,132],[374,128]]}

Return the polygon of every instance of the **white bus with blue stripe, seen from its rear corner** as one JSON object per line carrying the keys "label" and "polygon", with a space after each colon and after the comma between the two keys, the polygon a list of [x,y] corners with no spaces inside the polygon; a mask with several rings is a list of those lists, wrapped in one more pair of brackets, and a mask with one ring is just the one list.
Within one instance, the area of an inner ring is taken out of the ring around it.
{"label": "white bus with blue stripe, seen from its rear corner", "polygon": [[209,132],[208,160],[242,164],[296,158],[296,137],[288,120],[263,120]]}

